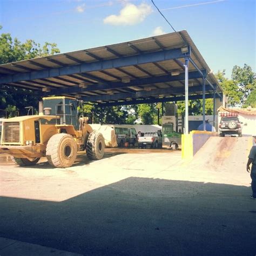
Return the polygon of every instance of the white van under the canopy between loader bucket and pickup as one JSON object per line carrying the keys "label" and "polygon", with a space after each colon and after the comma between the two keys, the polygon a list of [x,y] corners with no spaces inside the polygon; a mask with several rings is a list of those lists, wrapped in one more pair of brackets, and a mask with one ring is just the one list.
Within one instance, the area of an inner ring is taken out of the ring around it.
{"label": "white van under the canopy between loader bucket and pickup", "polygon": [[124,146],[124,143],[126,142],[126,134],[129,136],[130,144],[132,144],[133,146],[135,145],[137,140],[137,132],[132,125],[109,124],[109,126],[114,129],[114,133],[116,134],[117,138],[117,144],[119,147]]}

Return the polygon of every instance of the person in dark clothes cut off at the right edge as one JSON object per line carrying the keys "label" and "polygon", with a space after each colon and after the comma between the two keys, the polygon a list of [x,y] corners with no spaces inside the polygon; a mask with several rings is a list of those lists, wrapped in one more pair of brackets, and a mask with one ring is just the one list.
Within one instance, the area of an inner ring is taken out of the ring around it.
{"label": "person in dark clothes cut off at the right edge", "polygon": [[[256,136],[253,136],[254,143],[256,144]],[[247,172],[250,172],[250,165],[252,164],[251,169],[251,178],[252,178],[252,199],[256,199],[256,145],[252,146],[250,154],[248,156],[248,162],[246,166]]]}

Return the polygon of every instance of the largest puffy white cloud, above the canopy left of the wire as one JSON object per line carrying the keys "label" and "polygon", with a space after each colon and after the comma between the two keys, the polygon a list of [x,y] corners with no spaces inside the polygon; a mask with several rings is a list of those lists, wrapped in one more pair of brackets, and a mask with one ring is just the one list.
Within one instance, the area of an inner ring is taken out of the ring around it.
{"label": "largest puffy white cloud, above the canopy left of the wire", "polygon": [[128,3],[120,10],[119,15],[110,15],[104,19],[105,24],[111,25],[134,25],[143,22],[152,12],[151,5],[142,3],[134,5]]}

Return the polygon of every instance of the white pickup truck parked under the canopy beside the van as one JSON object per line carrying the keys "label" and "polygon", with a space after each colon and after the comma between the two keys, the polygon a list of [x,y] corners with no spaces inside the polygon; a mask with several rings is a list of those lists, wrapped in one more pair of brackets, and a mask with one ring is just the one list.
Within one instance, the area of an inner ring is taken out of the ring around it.
{"label": "white pickup truck parked under the canopy beside the van", "polygon": [[138,137],[139,148],[150,146],[151,148],[157,148],[162,144],[162,137],[160,132],[145,132],[143,137]]}

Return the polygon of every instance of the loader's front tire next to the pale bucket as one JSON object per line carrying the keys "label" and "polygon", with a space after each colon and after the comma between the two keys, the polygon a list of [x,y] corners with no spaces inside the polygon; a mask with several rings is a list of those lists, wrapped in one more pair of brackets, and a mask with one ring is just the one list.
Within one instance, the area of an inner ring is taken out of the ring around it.
{"label": "loader's front tire next to the pale bucket", "polygon": [[87,145],[86,145],[86,154],[87,157],[92,160],[102,159],[104,156],[105,141],[102,133],[98,131],[92,131],[89,134]]}

